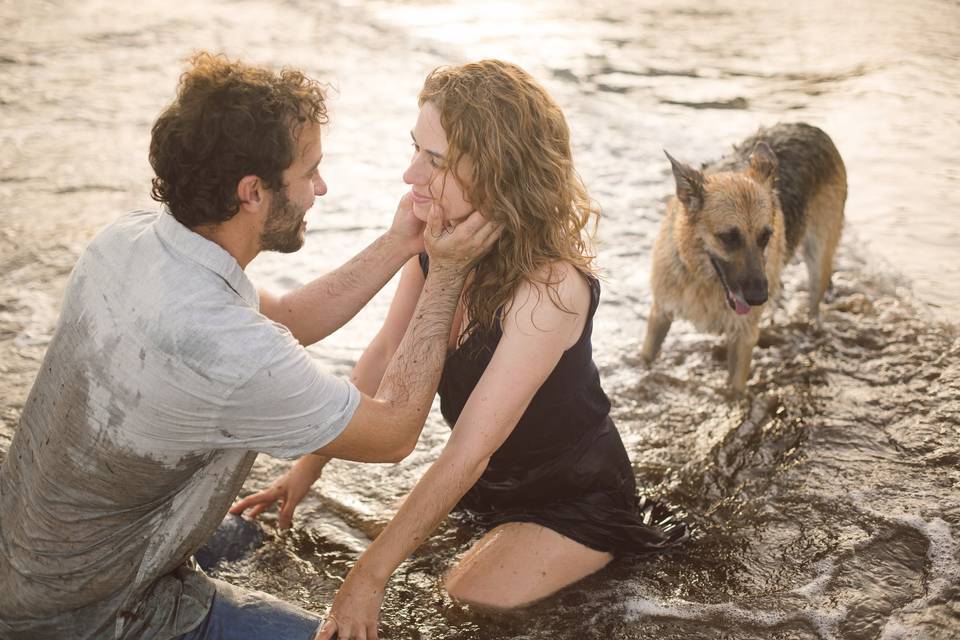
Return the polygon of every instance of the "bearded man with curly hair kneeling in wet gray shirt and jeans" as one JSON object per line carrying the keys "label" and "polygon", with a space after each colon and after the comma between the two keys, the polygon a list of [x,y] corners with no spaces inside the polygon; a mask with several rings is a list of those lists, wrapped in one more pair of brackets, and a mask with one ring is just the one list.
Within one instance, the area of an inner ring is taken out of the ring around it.
{"label": "bearded man with curly hair kneeling in wet gray shirt and jeans", "polygon": [[[436,390],[465,274],[495,236],[474,214],[424,233],[405,197],[387,233],[281,297],[243,272],[304,241],[326,192],[319,85],[199,54],[153,128],[160,212],[77,262],[0,468],[0,637],[308,638],[306,612],[190,562],[257,452],[394,461]],[[416,320],[375,397],[304,350],[349,320],[426,239]],[[258,626],[259,625],[259,626]],[[257,629],[264,629],[262,633]],[[269,631],[266,629],[269,628]]]}

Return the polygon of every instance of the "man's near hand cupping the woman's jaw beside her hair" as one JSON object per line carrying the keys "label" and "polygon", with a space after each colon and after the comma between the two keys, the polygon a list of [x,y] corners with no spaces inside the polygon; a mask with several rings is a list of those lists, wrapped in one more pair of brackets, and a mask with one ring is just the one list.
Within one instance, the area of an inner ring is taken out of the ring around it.
{"label": "man's near hand cupping the woman's jaw beside her hair", "polygon": [[423,239],[430,268],[465,272],[485,256],[500,237],[502,225],[490,222],[479,211],[462,220],[446,220],[443,210],[430,207]]}

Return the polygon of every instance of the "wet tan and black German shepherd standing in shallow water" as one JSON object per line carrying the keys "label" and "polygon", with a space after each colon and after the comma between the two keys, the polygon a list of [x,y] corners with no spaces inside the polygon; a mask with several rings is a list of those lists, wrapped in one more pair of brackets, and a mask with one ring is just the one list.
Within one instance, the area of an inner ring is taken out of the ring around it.
{"label": "wet tan and black German shepherd standing in shallow water", "polygon": [[847,173],[830,138],[808,124],[760,129],[698,171],[667,158],[677,195],[653,248],[653,308],[641,356],[650,363],[674,317],[727,335],[728,381],[746,388],[750,355],[780,270],[803,247],[810,318],[830,285],[843,229]]}

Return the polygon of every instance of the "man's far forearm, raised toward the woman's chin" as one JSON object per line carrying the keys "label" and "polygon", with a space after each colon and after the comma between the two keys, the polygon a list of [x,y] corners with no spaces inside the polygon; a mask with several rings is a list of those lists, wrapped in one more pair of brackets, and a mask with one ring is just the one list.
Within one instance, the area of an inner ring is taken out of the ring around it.
{"label": "man's far forearm, raised toward the woman's chin", "polygon": [[389,232],[339,268],[291,291],[262,311],[302,345],[317,342],[353,318],[413,255]]}

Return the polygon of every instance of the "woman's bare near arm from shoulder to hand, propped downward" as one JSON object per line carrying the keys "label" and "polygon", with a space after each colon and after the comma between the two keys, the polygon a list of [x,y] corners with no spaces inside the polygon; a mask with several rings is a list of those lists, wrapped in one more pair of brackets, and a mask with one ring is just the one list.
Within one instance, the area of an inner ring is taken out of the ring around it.
{"label": "woman's bare near arm from shoulder to hand, propped downward", "polygon": [[329,640],[377,637],[384,588],[405,560],[447,516],[486,469],[563,352],[583,330],[590,293],[572,267],[556,285],[559,309],[538,285],[521,286],[504,318],[489,366],[467,401],[450,440],[407,496],[397,515],[360,556],[317,635]]}

